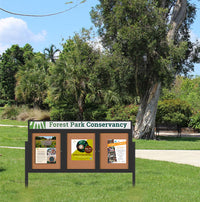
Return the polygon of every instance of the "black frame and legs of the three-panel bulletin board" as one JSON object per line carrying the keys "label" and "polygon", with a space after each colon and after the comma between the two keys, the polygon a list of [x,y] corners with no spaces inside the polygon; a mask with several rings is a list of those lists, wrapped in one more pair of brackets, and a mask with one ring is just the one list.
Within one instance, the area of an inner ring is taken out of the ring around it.
{"label": "black frame and legs of the three-panel bulletin board", "polygon": [[[132,185],[135,185],[135,142],[132,142],[131,129],[29,129],[28,141],[25,142],[25,187],[28,187],[28,173],[132,173]],[[37,121],[39,122],[39,121]],[[63,121],[56,121],[63,122]],[[80,121],[73,121],[80,122]],[[92,121],[90,121],[92,122]],[[99,121],[101,122],[101,121]],[[103,121],[119,122],[119,121]],[[123,122],[123,121],[121,121]],[[60,133],[61,136],[61,169],[32,169],[32,134]],[[95,133],[95,169],[67,169],[67,133]],[[100,169],[100,133],[128,133],[128,169]]]}

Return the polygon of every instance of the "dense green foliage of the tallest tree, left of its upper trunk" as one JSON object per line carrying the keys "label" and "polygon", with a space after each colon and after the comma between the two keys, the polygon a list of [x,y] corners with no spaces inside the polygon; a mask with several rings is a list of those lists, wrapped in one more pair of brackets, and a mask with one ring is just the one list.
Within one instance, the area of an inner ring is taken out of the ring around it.
{"label": "dense green foliage of the tallest tree, left of its upper trunk", "polygon": [[[98,27],[104,46],[116,55],[113,58],[113,60],[117,58],[118,62],[116,75],[121,68],[121,72],[124,71],[126,77],[131,77],[131,80],[124,78],[121,83],[130,81],[129,89],[135,94],[141,95],[143,90],[145,91],[148,77],[151,79],[152,76],[158,77],[162,54],[168,48],[161,42],[166,34],[166,26],[162,18],[165,11],[155,8],[153,1],[148,3],[143,0],[131,1],[131,3],[100,1],[91,12],[92,21]],[[155,49],[159,49],[156,55],[153,53]],[[147,55],[146,64],[144,55]]]}

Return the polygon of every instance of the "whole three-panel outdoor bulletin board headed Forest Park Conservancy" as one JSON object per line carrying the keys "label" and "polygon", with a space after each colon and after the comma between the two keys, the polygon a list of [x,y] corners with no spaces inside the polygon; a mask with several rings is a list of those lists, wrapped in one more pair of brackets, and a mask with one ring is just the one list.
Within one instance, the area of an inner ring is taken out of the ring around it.
{"label": "whole three-panel outdoor bulletin board headed Forest Park Conservancy", "polygon": [[29,121],[25,142],[28,173],[131,172],[135,144],[130,121]]}

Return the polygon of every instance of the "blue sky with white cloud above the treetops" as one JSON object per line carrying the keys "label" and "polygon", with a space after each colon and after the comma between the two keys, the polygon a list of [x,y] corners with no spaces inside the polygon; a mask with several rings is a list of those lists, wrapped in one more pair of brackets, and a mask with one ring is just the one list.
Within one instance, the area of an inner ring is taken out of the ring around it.
{"label": "blue sky with white cloud above the treetops", "polygon": [[[71,4],[66,2],[70,0],[0,0],[0,8],[15,13],[45,15],[70,9],[81,0],[74,0]],[[83,27],[89,29],[93,26],[89,12],[98,2],[98,0],[87,0],[65,13],[41,18],[17,16],[0,10],[0,54],[13,44],[23,47],[29,43],[35,52],[43,52],[51,44],[61,49],[63,39],[67,40],[75,32],[80,33]],[[200,40],[200,1],[190,2],[197,5],[191,37],[193,40]],[[200,76],[200,64],[195,65],[195,72],[191,74]]]}

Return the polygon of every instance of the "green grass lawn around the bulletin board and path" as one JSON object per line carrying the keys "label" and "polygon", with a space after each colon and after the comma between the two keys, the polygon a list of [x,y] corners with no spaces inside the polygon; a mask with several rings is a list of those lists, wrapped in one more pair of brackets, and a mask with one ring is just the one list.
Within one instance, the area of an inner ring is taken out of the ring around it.
{"label": "green grass lawn around the bulletin board and path", "polygon": [[[137,140],[139,149],[199,149],[199,138]],[[1,146],[24,147],[27,128],[0,127]],[[199,201],[200,169],[136,159],[131,173],[29,173],[24,185],[24,150],[0,148],[0,201]]]}

